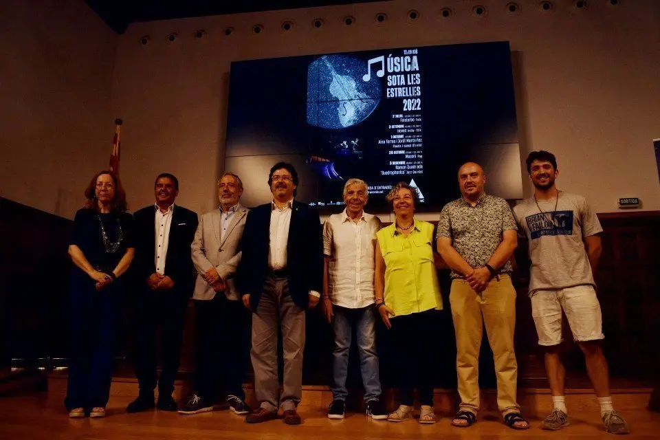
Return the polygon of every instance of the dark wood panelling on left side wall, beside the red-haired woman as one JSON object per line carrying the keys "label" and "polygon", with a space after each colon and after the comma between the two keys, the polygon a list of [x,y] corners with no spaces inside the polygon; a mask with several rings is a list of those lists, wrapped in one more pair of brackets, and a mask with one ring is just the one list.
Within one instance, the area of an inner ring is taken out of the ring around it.
{"label": "dark wood panelling on left side wall, beside the red-haired woman", "polygon": [[0,364],[67,355],[67,255],[73,222],[0,199]]}

